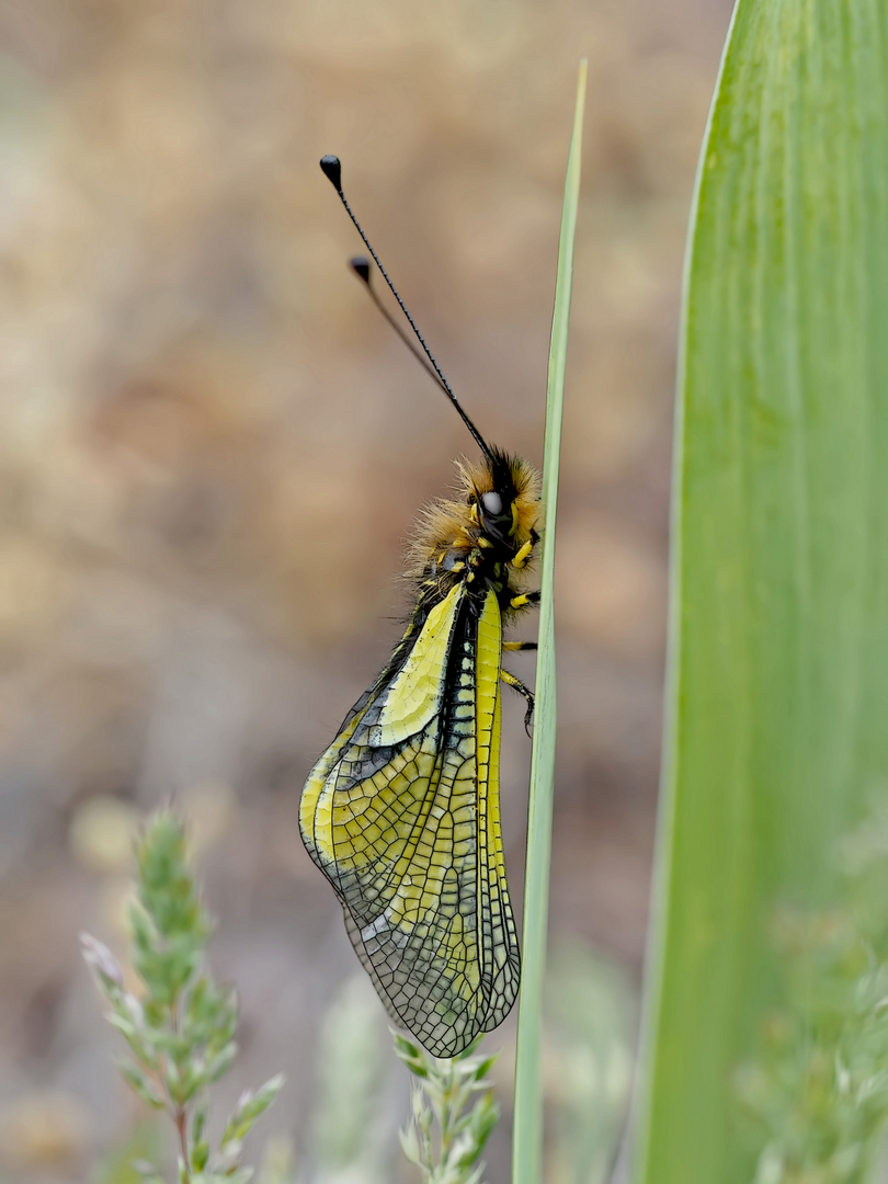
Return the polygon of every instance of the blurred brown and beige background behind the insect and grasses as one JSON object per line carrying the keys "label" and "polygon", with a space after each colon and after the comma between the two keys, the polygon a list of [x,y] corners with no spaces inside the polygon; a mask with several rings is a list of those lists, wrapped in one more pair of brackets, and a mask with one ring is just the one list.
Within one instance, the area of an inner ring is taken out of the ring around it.
{"label": "blurred brown and beige background behind the insect and grasses", "polygon": [[[349,275],[360,244],[317,160],[342,156],[481,431],[539,464],[580,54],[552,928],[637,980],[680,277],[728,14],[0,4],[0,1179],[92,1179],[141,1113],[77,933],[120,950],[131,828],[170,798],[242,993],[230,1092],[284,1069],[263,1134],[300,1144],[318,1016],[355,964],[298,792],[398,636],[418,507],[474,451]],[[519,900],[522,710],[503,754]]]}

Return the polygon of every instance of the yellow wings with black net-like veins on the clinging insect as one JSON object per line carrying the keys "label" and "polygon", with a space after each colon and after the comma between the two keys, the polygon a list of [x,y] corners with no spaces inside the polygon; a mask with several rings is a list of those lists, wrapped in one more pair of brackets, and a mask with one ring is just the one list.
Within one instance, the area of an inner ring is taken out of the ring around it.
{"label": "yellow wings with black net-like veins on the clinging insect", "polygon": [[302,794],[311,858],[398,1024],[453,1056],[502,1022],[520,954],[500,831],[502,620],[458,584],[417,610]]}

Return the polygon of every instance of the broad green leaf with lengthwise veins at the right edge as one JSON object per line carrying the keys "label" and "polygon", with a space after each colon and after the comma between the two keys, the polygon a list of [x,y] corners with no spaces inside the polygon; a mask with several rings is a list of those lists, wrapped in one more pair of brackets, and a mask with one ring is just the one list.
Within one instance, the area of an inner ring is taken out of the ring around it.
{"label": "broad green leaf with lengthwise veins at the right edge", "polygon": [[888,797],[887,46],[884,0],[739,0],[703,147],[639,1184],[753,1178],[768,918]]}

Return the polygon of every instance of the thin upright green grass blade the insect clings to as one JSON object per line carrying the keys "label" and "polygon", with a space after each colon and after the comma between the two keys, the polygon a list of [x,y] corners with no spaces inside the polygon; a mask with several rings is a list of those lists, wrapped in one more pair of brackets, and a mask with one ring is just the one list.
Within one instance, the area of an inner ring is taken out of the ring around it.
{"label": "thin upright green grass blade the insect clings to", "polygon": [[515,1184],[536,1184],[542,1179],[542,1034],[540,1019],[542,978],[546,969],[552,798],[555,777],[555,633],[553,617],[555,509],[561,448],[561,408],[564,405],[565,367],[567,365],[567,322],[571,314],[573,239],[580,191],[580,148],[585,96],[586,63],[584,60],[580,63],[577,84],[577,107],[565,180],[546,403],[546,443],[542,465],[542,560],[540,564],[542,599],[540,601],[540,650],[536,661],[534,741],[530,758],[523,959],[515,1069],[513,1140],[513,1179]]}

